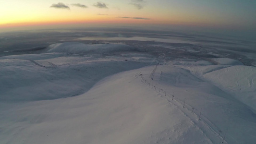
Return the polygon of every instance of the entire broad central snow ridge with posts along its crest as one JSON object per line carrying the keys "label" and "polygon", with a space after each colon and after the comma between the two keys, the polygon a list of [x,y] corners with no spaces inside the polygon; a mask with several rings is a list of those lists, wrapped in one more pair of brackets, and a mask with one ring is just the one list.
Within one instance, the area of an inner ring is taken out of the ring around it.
{"label": "entire broad central snow ridge with posts along its crest", "polygon": [[[218,88],[184,69],[159,66],[155,80],[150,81],[152,69],[109,76],[80,96],[9,104],[11,108],[1,108],[0,140],[12,144],[218,144],[224,136],[218,136],[218,130],[227,133],[226,141],[232,144],[255,140],[256,117],[248,108],[221,97],[225,93],[220,90],[211,94]],[[174,81],[161,80],[170,74]],[[143,79],[171,88],[165,96]],[[179,103],[184,97],[185,108]],[[190,106],[195,106],[195,113]]]}

